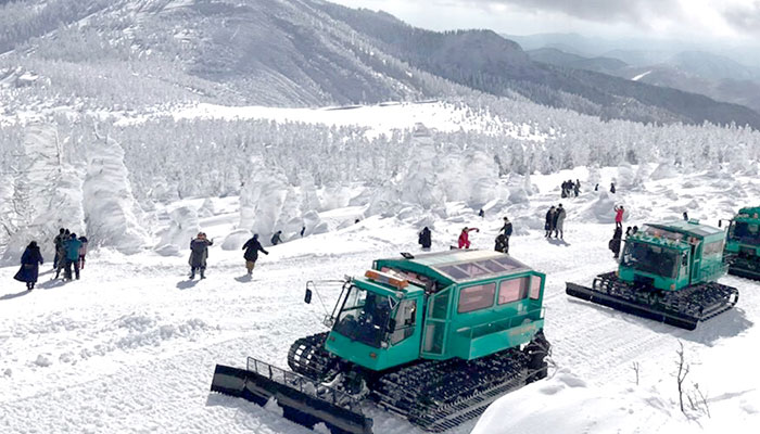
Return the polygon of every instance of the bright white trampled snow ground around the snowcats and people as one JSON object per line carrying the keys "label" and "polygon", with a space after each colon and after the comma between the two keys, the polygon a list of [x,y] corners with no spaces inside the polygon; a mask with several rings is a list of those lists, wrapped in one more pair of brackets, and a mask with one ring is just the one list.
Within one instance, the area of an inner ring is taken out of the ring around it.
{"label": "bright white trampled snow ground around the snowcats and people", "polygon": [[[503,397],[480,421],[453,433],[760,430],[760,284],[722,278],[739,290],[738,305],[692,332],[565,294],[566,281],[590,284],[616,267],[607,250],[615,204],[630,209],[625,225],[677,219],[683,210],[717,224],[760,197],[760,181],[752,177],[654,169],[636,169],[650,180],[634,184],[626,168],[534,176],[535,194],[492,204],[485,218],[451,204],[446,219],[427,219],[435,250],[448,248],[464,226],[479,227],[473,244],[490,250],[502,216],[508,215],[516,227],[511,254],[548,276],[550,378]],[[591,191],[590,178],[598,179],[603,191]],[[619,181],[617,195],[606,193],[612,178]],[[583,182],[581,197],[559,199],[558,186],[566,179]],[[318,299],[302,302],[306,281],[360,275],[375,258],[417,252],[421,228],[413,218],[380,216],[354,225],[360,208],[333,210],[320,216],[329,232],[267,247],[270,254],[261,257],[249,281],[242,252],[220,247],[240,218],[236,200],[175,205],[204,208],[199,224],[215,245],[203,281],[188,281],[187,250],[179,256],[96,251],[81,280],[65,284],[51,280],[51,258],[46,257],[39,286],[30,293],[12,280],[16,267],[0,269],[0,432],[312,432],[251,403],[211,394],[215,365],[243,367],[246,356],[255,356],[287,367],[290,344],[324,330]],[[547,241],[543,216],[560,202],[568,209],[565,241]],[[337,291],[325,288],[321,296],[331,308]],[[688,414],[677,403],[679,342],[691,367],[685,387],[694,392],[696,383],[705,396],[696,410],[686,403]],[[376,433],[421,433],[370,404],[366,412]]]}

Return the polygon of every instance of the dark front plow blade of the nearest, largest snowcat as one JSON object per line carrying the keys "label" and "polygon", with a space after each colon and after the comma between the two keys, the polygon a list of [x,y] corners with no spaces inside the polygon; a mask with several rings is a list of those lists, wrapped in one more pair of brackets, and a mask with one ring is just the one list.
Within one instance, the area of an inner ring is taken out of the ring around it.
{"label": "dark front plow blade of the nearest, largest snowcat", "polygon": [[322,422],[333,434],[372,433],[372,420],[345,393],[250,357],[248,369],[217,365],[211,390],[262,407],[275,398],[284,418],[309,429]]}

